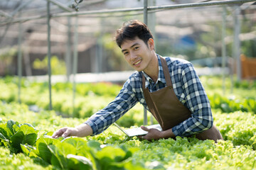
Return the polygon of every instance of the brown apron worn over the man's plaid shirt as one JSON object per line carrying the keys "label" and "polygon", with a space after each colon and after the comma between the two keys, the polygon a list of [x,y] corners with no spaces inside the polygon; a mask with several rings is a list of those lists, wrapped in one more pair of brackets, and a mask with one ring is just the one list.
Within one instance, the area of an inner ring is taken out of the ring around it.
{"label": "brown apron worn over the man's plaid shirt", "polygon": [[[182,123],[184,120],[191,118],[191,111],[188,110],[181,101],[178,101],[174,88],[171,83],[171,77],[169,69],[167,67],[166,60],[161,58],[161,64],[164,69],[164,77],[166,79],[166,87],[159,89],[158,91],[149,92],[149,89],[145,89],[145,77],[142,74],[142,89],[146,104],[149,107],[149,111],[154,118],[156,118],[159,125],[163,130],[169,130],[178,123]],[[212,128],[196,134],[199,140],[223,140],[219,130],[213,125]]]}

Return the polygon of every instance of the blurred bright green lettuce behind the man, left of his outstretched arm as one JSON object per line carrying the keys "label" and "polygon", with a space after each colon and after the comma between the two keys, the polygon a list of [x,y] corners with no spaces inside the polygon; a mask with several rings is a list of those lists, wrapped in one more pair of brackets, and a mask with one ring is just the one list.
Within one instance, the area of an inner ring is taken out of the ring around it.
{"label": "blurred bright green lettuce behind the man, left of his outstretched arm", "polygon": [[[16,79],[0,79],[0,99],[11,102],[18,101]],[[105,107],[118,94],[121,86],[100,84],[77,84],[75,112],[73,113],[72,84],[53,84],[53,109],[64,115],[76,115],[78,118],[86,118],[101,108]],[[104,97],[103,97],[104,96]],[[48,109],[48,84],[35,83],[23,80],[21,88],[21,101],[27,105],[36,105],[39,108]],[[98,103],[95,103],[98,101]]]}

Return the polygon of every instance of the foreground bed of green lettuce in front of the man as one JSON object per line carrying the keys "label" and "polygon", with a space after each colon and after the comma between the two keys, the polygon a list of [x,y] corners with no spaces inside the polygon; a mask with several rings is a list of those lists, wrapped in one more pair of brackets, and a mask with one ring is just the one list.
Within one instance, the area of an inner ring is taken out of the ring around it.
{"label": "foreground bed of green lettuce in front of the man", "polygon": [[[86,120],[0,102],[1,169],[256,169],[256,115],[215,112],[224,140],[176,137],[146,141],[115,126],[100,135],[53,139],[53,131]],[[122,119],[122,118],[121,118]]]}

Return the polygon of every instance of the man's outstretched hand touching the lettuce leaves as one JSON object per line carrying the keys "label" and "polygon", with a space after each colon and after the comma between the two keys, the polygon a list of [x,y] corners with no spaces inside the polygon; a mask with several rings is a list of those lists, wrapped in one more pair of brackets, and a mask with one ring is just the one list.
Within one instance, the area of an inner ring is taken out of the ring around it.
{"label": "man's outstretched hand touching the lettuce leaves", "polygon": [[82,124],[75,128],[60,128],[59,130],[55,131],[52,135],[53,138],[57,137],[70,137],[70,136],[77,136],[77,137],[86,137],[88,135],[92,135],[92,128],[90,125]]}

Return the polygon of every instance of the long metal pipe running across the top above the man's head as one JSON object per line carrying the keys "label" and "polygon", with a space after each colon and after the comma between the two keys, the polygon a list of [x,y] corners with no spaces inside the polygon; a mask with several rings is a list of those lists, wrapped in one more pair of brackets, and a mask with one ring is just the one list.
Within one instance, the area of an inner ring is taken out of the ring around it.
{"label": "long metal pipe running across the top above the man's head", "polygon": [[[243,4],[246,2],[252,2],[255,0],[230,0],[230,1],[211,1],[211,2],[200,2],[200,3],[191,3],[191,4],[175,4],[175,5],[168,5],[168,6],[148,6],[147,11],[157,11],[157,10],[169,10],[174,8],[192,8],[192,7],[199,7],[199,6],[217,6],[217,5],[230,5],[230,4]],[[105,14],[105,13],[125,13],[125,12],[132,12],[132,11],[144,11],[143,7],[139,8],[123,8],[123,9],[109,9],[109,10],[95,10],[95,11],[81,11],[81,12],[71,12],[71,13],[55,13],[52,14],[52,18],[58,18],[63,16],[86,16],[91,14]],[[18,22],[25,22],[31,21],[35,19],[46,18],[46,15],[43,16],[33,16],[33,17],[26,17],[26,18],[18,18],[14,19],[13,21],[6,21],[1,23],[0,26],[6,25],[8,23],[18,23]]]}

